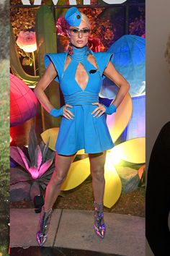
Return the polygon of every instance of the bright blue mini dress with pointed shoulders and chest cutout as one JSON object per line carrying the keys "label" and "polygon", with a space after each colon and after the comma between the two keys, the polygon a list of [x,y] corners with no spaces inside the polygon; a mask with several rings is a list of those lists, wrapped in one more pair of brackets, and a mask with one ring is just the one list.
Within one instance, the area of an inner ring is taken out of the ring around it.
{"label": "bright blue mini dress with pointed shoulders and chest cutout", "polygon": [[[90,53],[96,59],[97,67],[94,67],[87,59],[80,61],[84,65],[89,80],[84,90],[75,80],[76,68],[79,64],[71,59],[68,67],[63,72],[66,63],[68,51],[58,54],[45,54],[45,67],[47,68],[50,61],[58,72],[55,81],[59,82],[61,91],[66,104],[73,108],[67,107],[73,114],[73,119],[61,118],[61,126],[58,132],[58,138],[55,142],[55,150],[61,155],[71,155],[78,150],[84,149],[85,153],[100,153],[114,147],[112,137],[109,134],[106,117],[102,114],[99,117],[93,117],[91,114],[99,102],[99,91],[104,79],[104,69],[107,67],[112,57],[111,53],[91,51]],[[96,70],[96,72],[91,72]]]}

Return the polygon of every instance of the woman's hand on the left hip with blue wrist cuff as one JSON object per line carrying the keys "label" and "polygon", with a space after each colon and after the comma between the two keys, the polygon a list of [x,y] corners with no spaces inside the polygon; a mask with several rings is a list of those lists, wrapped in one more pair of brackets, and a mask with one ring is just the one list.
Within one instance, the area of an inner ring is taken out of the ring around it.
{"label": "woman's hand on the left hip with blue wrist cuff", "polygon": [[68,105],[68,104],[62,106],[59,109],[52,108],[50,111],[50,116],[54,116],[54,117],[64,116],[64,117],[66,117],[66,119],[73,119],[72,116],[74,116],[74,115],[67,107],[73,108],[73,106]]}

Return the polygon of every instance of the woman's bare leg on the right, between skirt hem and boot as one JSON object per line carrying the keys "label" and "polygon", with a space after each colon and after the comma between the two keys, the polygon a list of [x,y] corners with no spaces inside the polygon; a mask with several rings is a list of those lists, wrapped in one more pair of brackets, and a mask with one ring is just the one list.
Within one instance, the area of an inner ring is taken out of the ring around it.
{"label": "woman's bare leg on the right, between skirt hem and boot", "polygon": [[90,171],[92,176],[92,188],[95,202],[103,202],[104,196],[104,163],[107,151],[102,153],[89,154]]}

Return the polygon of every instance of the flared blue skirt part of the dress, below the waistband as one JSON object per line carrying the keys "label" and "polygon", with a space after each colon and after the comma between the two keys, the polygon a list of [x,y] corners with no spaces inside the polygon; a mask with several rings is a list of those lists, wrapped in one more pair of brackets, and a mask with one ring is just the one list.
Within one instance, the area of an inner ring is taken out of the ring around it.
{"label": "flared blue skirt part of the dress, below the waistband", "polygon": [[115,146],[107,127],[107,114],[99,117],[91,114],[97,105],[74,105],[67,108],[74,116],[73,119],[62,116],[55,143],[58,154],[71,155],[81,149],[84,149],[85,153],[100,153]]}

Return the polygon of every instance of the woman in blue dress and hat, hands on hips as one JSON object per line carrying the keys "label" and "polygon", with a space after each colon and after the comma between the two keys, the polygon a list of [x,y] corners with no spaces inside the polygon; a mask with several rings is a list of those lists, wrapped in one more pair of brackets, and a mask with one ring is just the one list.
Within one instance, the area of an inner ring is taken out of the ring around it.
{"label": "woman in blue dress and hat, hands on hips", "polygon": [[[38,100],[51,116],[62,116],[55,144],[55,171],[45,193],[45,205],[40,213],[37,242],[42,245],[48,235],[52,207],[68,173],[76,152],[84,148],[89,153],[92,188],[94,192],[94,231],[104,238],[103,214],[104,163],[108,149],[114,147],[106,123],[128,93],[130,85],[109,61],[112,54],[94,53],[87,46],[90,22],[85,14],[71,7],[65,14],[68,22],[68,51],[45,54],[47,68],[35,88]],[[99,103],[99,90],[104,76],[120,87],[112,104]],[[44,93],[52,80],[60,83],[66,105],[56,109]]]}

